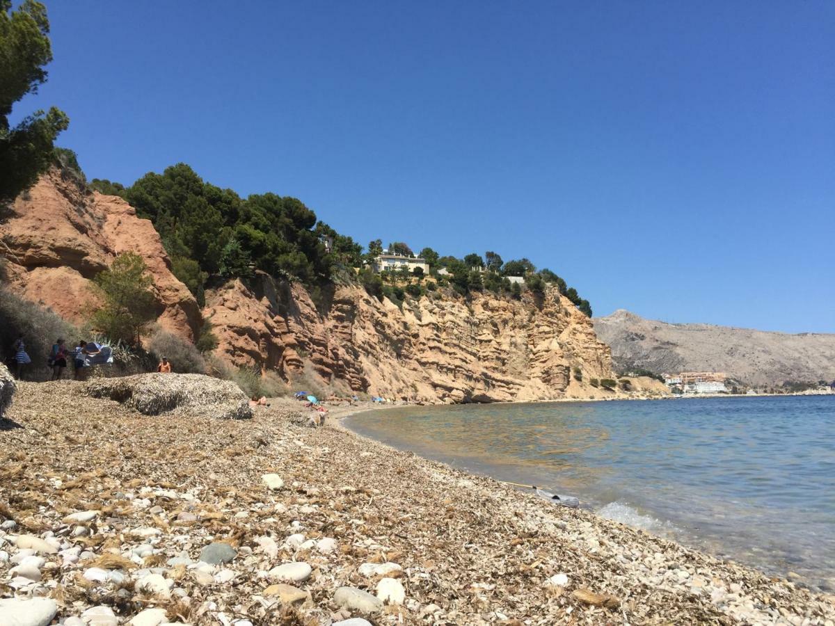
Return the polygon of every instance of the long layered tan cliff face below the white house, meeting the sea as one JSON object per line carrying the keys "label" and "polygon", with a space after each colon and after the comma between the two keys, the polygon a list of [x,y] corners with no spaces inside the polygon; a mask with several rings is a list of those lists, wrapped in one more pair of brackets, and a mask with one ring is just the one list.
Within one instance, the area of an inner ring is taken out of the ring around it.
{"label": "long layered tan cliff face below the white house, meeting the sea", "polygon": [[259,275],[206,295],[220,351],[237,366],[304,372],[344,391],[412,401],[512,401],[594,395],[575,381],[612,376],[609,347],[556,291],[541,301],[423,297],[402,310],[339,286],[316,310],[299,285]]}

